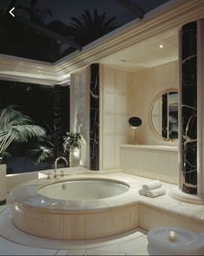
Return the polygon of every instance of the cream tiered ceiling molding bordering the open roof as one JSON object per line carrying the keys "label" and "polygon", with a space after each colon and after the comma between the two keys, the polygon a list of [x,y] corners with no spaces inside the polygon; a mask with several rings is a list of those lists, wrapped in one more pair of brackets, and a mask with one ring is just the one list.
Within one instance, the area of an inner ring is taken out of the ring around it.
{"label": "cream tiered ceiling molding bordering the open roof", "polygon": [[69,74],[92,62],[99,62],[105,56],[163,31],[175,28],[179,30],[184,23],[201,18],[204,18],[204,1],[172,0],[145,14],[142,20],[127,23],[58,62],[48,63],[0,55],[0,77],[8,80],[16,78],[23,82],[32,80],[46,84],[63,83],[67,81]]}

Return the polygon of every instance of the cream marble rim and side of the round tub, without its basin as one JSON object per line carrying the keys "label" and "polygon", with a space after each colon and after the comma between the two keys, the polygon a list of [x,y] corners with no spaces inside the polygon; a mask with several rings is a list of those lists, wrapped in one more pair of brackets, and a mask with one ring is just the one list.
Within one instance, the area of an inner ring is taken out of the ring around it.
{"label": "cream marble rim and side of the round tub, without its basin", "polygon": [[[128,188],[130,185],[124,181],[105,178],[105,175],[76,176],[29,181],[14,188],[11,192],[14,224],[24,232],[60,240],[103,238],[137,228],[138,206],[137,201],[132,201],[133,195],[137,194],[136,189]],[[64,200],[64,197],[51,198],[41,193],[46,187],[55,185],[62,186],[63,192],[63,185],[72,181],[114,182],[128,189],[123,194],[99,200],[74,200],[74,196]],[[115,199],[117,205],[110,203],[109,199]]]}

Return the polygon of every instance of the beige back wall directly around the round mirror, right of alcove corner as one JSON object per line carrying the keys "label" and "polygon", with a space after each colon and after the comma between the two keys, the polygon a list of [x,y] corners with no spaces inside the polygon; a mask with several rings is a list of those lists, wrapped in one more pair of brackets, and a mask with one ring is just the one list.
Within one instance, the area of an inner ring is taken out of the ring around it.
{"label": "beige back wall directly around the round mirror, right of alcove corner", "polygon": [[[166,89],[178,89],[178,63],[168,62],[150,69],[131,73],[128,85],[128,118],[138,116],[143,124],[137,128],[137,141],[141,144],[162,145],[166,141],[151,128],[150,109],[156,96]],[[131,143],[133,130],[128,127],[128,142]]]}

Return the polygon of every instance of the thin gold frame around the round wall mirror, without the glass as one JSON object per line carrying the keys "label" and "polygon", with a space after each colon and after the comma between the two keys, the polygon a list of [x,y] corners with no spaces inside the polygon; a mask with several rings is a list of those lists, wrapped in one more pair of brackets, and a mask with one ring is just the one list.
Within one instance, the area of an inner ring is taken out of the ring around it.
{"label": "thin gold frame around the round wall mirror, without the glass", "polygon": [[[149,121],[150,121],[150,128],[152,129],[152,131],[154,132],[154,134],[156,134],[160,139],[162,139],[163,141],[176,141],[177,139],[168,139],[168,138],[164,138],[163,135],[160,135],[157,131],[156,128],[153,125],[153,121],[152,121],[152,110],[153,107],[155,105],[155,102],[158,100],[159,97],[161,97],[163,94],[169,93],[169,92],[177,92],[179,93],[179,90],[177,88],[169,88],[169,89],[165,89],[163,91],[160,91],[156,97],[153,99],[153,102],[150,105],[150,112],[149,112]],[[179,97],[178,97],[179,98]]]}

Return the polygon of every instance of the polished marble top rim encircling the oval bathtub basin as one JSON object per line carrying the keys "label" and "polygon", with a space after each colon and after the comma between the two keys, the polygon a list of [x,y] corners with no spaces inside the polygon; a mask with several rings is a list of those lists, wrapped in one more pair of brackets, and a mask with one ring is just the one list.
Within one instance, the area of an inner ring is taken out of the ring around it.
{"label": "polished marble top rim encircling the oval bathtub basin", "polygon": [[[38,211],[43,210],[43,212],[54,212],[61,213],[61,211],[67,211],[67,213],[84,213],[84,212],[96,212],[103,209],[110,208],[105,204],[105,199],[101,200],[60,200],[54,199],[51,197],[44,196],[40,194],[41,189],[59,184],[63,186],[67,181],[111,181],[119,182],[119,184],[124,184],[127,187],[129,184],[126,184],[124,181],[118,179],[106,178],[105,174],[76,174],[76,175],[65,175],[64,177],[58,177],[57,179],[47,178],[28,181],[23,183],[20,186],[15,187],[11,191],[11,198],[16,204],[16,208],[22,207],[38,207]],[[121,182],[121,183],[120,183]],[[125,192],[125,196],[131,195],[135,191],[128,189]],[[118,197],[124,197],[124,194],[118,195]],[[117,197],[117,196],[115,196]],[[128,204],[128,202],[127,202]]]}

